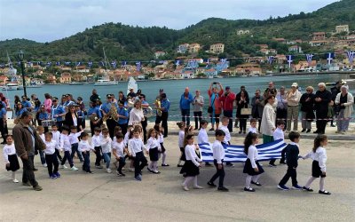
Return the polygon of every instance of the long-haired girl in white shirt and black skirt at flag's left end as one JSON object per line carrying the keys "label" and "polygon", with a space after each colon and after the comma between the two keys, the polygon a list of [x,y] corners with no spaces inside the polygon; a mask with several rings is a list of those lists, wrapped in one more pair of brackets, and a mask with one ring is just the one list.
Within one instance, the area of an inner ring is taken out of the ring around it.
{"label": "long-haired girl in white shirt and black skirt at flag's left end", "polygon": [[197,185],[197,175],[200,174],[201,159],[196,155],[195,150],[198,148],[197,144],[193,144],[193,134],[188,134],[185,137],[185,156],[186,161],[183,168],[180,170],[181,174],[185,175],[185,181],[182,184],[183,189],[188,191],[189,184],[193,181],[193,188],[202,189],[203,187]]}

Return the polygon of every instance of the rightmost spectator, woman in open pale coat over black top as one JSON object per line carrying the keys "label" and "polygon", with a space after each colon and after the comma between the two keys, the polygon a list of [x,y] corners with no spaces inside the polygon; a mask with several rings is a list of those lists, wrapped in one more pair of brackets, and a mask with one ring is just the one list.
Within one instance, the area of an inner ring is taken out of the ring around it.
{"label": "rightmost spectator, woman in open pale coat over black top", "polygon": [[336,95],[335,98],[335,117],[336,117],[336,133],[344,134],[348,131],[351,113],[353,111],[352,105],[354,104],[354,98],[350,92],[348,92],[348,86],[343,85],[341,92]]}

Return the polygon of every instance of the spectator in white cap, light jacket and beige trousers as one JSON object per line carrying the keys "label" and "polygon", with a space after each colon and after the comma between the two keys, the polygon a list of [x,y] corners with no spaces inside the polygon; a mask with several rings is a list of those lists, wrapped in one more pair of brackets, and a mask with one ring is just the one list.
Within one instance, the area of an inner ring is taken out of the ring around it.
{"label": "spectator in white cap, light jacket and beige trousers", "polygon": [[291,131],[291,123],[294,121],[294,130],[298,131],[298,105],[301,99],[301,92],[297,90],[298,84],[292,83],[291,90],[288,91],[288,126],[287,131]]}

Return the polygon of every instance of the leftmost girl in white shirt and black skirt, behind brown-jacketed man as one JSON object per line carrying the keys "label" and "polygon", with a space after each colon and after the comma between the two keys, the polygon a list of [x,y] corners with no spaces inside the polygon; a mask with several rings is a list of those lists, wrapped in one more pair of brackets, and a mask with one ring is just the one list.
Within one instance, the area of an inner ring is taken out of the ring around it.
{"label": "leftmost girl in white shirt and black skirt, behind brown-jacketed man", "polygon": [[6,163],[6,170],[12,170],[12,182],[19,183],[19,180],[15,176],[16,170],[20,169],[19,160],[16,155],[15,145],[13,144],[12,135],[6,136],[6,145],[4,146],[4,162]]}

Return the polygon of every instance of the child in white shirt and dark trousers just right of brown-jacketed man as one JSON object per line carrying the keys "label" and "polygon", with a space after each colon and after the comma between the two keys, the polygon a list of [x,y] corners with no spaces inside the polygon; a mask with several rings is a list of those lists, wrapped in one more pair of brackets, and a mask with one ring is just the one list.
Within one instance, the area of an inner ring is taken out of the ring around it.
{"label": "child in white shirt and dark trousers just right of brown-jacketed man", "polygon": [[[58,144],[56,141],[52,140],[52,134],[51,132],[46,132],[44,135],[44,153],[45,153],[45,161],[47,163],[47,168],[48,168],[48,174],[50,175],[50,178],[55,179],[55,178],[60,178],[60,174],[58,172],[58,159],[57,156],[55,155],[55,150],[56,148],[59,148]],[[54,166],[54,170],[53,170]]]}

